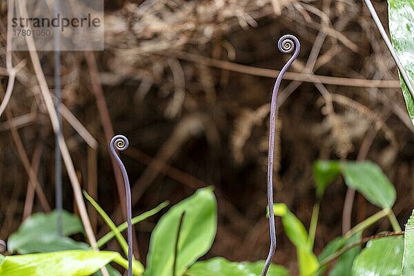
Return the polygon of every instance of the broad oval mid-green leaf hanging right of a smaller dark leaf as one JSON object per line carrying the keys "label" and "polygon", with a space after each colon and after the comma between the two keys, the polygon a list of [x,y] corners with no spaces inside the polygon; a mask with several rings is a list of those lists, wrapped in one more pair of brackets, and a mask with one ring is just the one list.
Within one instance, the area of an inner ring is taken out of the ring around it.
{"label": "broad oval mid-green leaf hanging right of a smaller dark leaf", "polygon": [[380,166],[371,161],[341,163],[346,185],[354,188],[364,197],[380,208],[394,205],[396,192]]}

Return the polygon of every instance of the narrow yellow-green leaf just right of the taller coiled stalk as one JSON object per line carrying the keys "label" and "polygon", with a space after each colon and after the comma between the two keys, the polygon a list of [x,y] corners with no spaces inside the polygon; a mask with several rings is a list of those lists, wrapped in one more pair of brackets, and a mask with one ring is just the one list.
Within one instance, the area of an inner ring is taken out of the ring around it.
{"label": "narrow yellow-green leaf just right of the taller coiled stalk", "polygon": [[312,248],[308,248],[308,232],[304,224],[288,210],[286,204],[274,204],[273,210],[276,210],[275,215],[282,217],[286,236],[296,247],[299,275],[314,275],[319,268],[319,262],[317,262],[317,257],[313,254]]}

